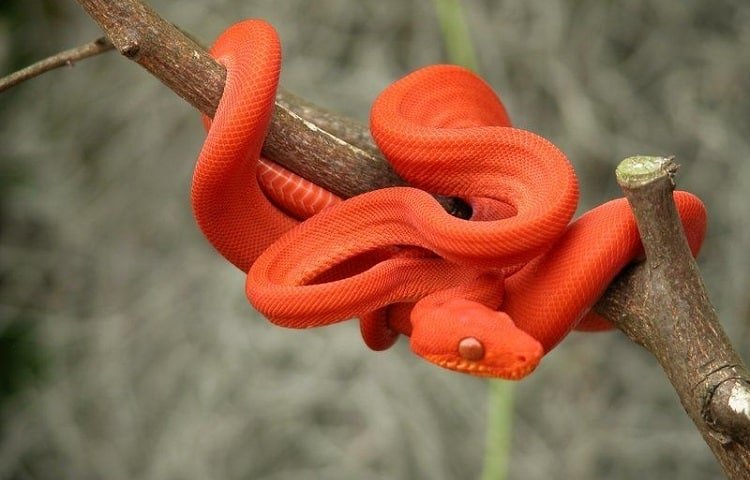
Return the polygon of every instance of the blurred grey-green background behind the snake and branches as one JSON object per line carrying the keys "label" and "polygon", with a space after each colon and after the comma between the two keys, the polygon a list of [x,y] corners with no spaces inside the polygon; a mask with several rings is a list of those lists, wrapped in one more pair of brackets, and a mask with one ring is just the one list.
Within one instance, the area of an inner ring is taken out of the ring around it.
{"label": "blurred grey-green background behind the snake and branches", "polygon": [[[443,61],[428,0],[153,0],[209,43],[262,17],[284,88],[360,119]],[[471,1],[480,69],[575,164],[582,207],[617,162],[676,154],[704,199],[711,297],[748,358],[750,3]],[[72,0],[0,2],[12,71],[100,35]],[[213,252],[188,189],[198,114],[111,53],[0,95],[0,478],[476,478],[487,383],[354,322],[276,328]],[[518,384],[510,478],[720,477],[658,365],[570,336]]]}

